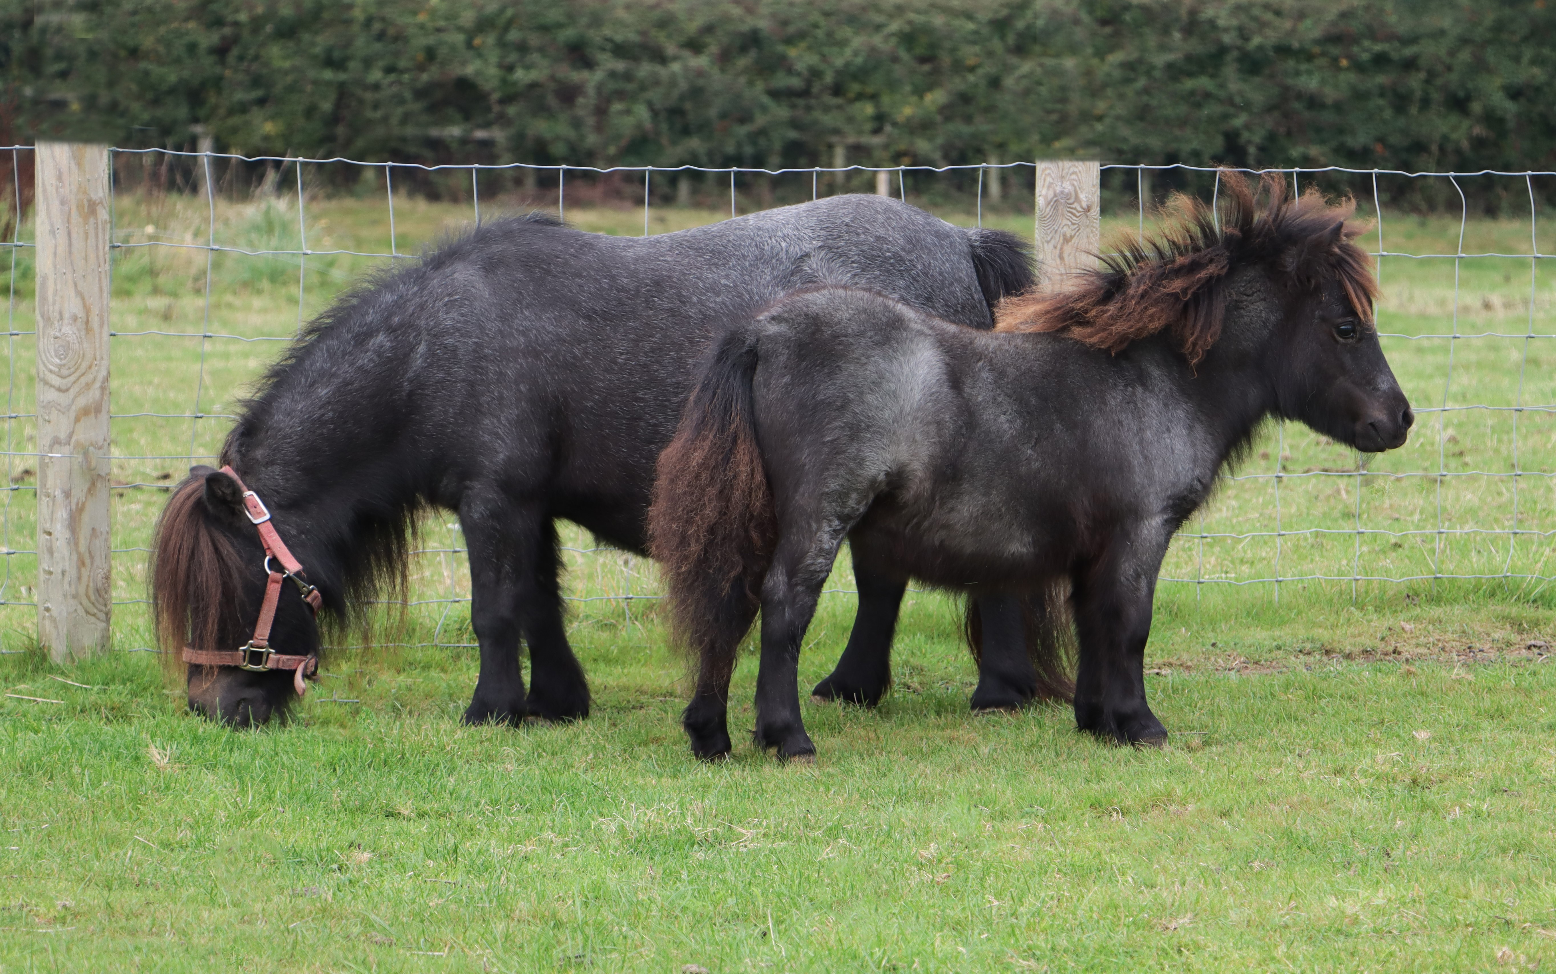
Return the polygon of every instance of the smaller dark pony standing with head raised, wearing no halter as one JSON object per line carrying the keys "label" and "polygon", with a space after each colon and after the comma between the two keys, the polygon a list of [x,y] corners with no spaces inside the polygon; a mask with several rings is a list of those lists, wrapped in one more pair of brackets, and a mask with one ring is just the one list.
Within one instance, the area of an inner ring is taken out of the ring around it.
{"label": "smaller dark pony standing with head raised, wearing no halter", "polygon": [[697,756],[730,752],[730,674],[758,608],[756,744],[814,753],[795,667],[843,538],[898,580],[1019,597],[1047,633],[1043,685],[1072,692],[1083,730],[1165,739],[1142,677],[1151,597],[1217,471],[1270,415],[1365,451],[1413,422],[1352,207],[1287,199],[1279,177],[1223,180],[1220,224],[1183,201],[1167,235],[1007,300],[994,333],[822,288],[719,339],[650,512],[699,660],[683,717]]}

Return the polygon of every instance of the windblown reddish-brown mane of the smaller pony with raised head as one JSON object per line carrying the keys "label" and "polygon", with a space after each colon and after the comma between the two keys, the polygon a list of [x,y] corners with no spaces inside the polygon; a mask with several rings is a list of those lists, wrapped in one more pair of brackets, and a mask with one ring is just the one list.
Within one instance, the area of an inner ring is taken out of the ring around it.
{"label": "windblown reddish-brown mane of the smaller pony with raised head", "polygon": [[[1169,229],[1158,238],[1127,241],[1100,268],[1058,289],[1005,299],[996,330],[1063,333],[1114,353],[1169,331],[1189,364],[1197,364],[1221,335],[1226,274],[1259,263],[1299,289],[1337,280],[1357,319],[1372,324],[1377,280],[1372,257],[1354,241],[1365,227],[1346,222],[1355,210],[1352,199],[1330,204],[1313,188],[1287,199],[1279,173],[1254,182],[1223,170],[1221,184],[1229,202],[1220,226],[1206,204],[1175,196]],[[1337,224],[1343,224],[1338,238]]]}

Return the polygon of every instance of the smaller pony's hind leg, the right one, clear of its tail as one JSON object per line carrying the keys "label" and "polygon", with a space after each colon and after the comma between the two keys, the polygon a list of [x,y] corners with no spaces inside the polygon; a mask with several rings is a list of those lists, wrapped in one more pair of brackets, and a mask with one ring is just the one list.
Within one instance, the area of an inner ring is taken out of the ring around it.
{"label": "smaller pony's hind leg, the right one, clear of its tail", "polygon": [[778,545],[762,582],[762,653],[756,672],[758,747],[778,748],[780,758],[814,758],[815,745],[800,714],[800,646],[815,616],[822,585],[843,532],[814,532]]}

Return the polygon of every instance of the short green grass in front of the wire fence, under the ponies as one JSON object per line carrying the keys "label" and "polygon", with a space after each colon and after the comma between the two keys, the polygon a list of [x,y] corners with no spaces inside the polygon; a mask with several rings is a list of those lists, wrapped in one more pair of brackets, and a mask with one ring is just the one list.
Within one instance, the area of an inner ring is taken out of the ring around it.
{"label": "short green grass in front of the wire fence, under the ponies", "polygon": [[[1187,621],[1173,615],[1161,629]],[[804,680],[846,622],[837,605],[817,619],[831,635]],[[244,734],[179,714],[143,655],[68,674],[6,657],[9,692],[62,703],[0,705],[0,965],[1466,971],[1556,955],[1556,669],[1522,644],[1455,666],[1260,643],[1249,664],[1178,636],[1183,661],[1148,689],[1184,733],[1136,752],[1057,708],[968,714],[972,667],[929,599],[909,607],[878,711],[808,705],[815,766],[739,744],[706,767],[658,629],[576,632],[594,716],[523,730],[457,723],[468,650],[338,658],[291,727]]]}

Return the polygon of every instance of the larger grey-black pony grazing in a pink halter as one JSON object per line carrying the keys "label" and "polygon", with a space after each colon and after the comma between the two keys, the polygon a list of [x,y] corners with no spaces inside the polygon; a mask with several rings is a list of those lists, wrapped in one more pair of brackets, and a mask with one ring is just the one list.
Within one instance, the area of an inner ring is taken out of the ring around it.
{"label": "larger grey-black pony grazing in a pink halter", "polygon": [[[269,370],[223,447],[224,470],[196,467],[159,520],[152,602],[170,658],[193,663],[190,706],[240,727],[269,720],[317,666],[314,611],[339,619],[392,588],[415,517],[440,507],[457,512],[470,549],[481,675],[465,720],[585,716],[552,523],[644,552],[654,462],[711,339],[825,285],[987,330],[993,305],[1030,283],[1015,236],[878,196],[646,238],[532,215],[380,274]],[[859,624],[817,692],[868,703],[890,678],[902,587],[868,559],[856,568]],[[983,610],[1019,616],[1015,602]],[[1002,652],[1024,655],[1019,635]],[[997,672],[996,700],[1035,692]]]}

